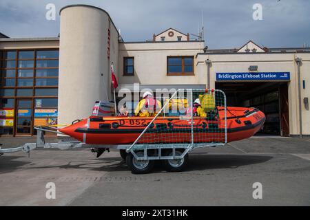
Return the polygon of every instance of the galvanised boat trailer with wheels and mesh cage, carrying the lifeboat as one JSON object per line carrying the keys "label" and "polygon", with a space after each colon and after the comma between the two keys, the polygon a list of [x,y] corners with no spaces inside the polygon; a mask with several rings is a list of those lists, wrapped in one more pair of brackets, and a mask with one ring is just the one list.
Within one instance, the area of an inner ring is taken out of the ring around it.
{"label": "galvanised boat trailer with wheels and mesh cage, carrying the lifeboat", "polygon": [[[214,106],[222,106],[225,110],[225,130],[220,133],[219,140],[217,142],[196,142],[194,129],[195,124],[193,122],[193,111],[191,111],[191,115],[187,116],[184,120],[187,120],[188,127],[191,129],[191,139],[189,142],[184,143],[176,143],[176,144],[165,144],[163,142],[156,142],[156,140],[152,140],[154,143],[143,143],[143,139],[145,136],[149,138],[149,134],[152,133],[152,124],[158,118],[159,115],[166,115],[169,112],[169,104],[171,105],[172,101],[180,98],[178,94],[180,92],[184,92],[185,89],[178,89],[172,94],[171,97],[167,98],[163,104],[163,107],[160,111],[154,116],[153,120],[145,127],[143,132],[136,138],[136,141],[132,144],[121,144],[121,145],[99,145],[99,144],[85,144],[79,140],[74,139],[65,139],[55,143],[46,143],[44,132],[52,132],[58,135],[63,135],[66,137],[64,133],[61,133],[59,129],[50,127],[50,126],[38,126],[34,127],[37,130],[37,142],[36,143],[26,143],[23,146],[19,146],[16,148],[1,148],[0,147],[0,155],[3,153],[14,153],[18,151],[23,151],[24,153],[28,153],[30,156],[30,152],[36,148],[59,148],[60,150],[68,150],[72,148],[90,148],[92,152],[97,153],[97,157],[99,157],[103,152],[110,151],[110,148],[116,148],[120,151],[121,157],[125,159],[127,166],[130,167],[132,173],[140,174],[140,173],[148,173],[152,170],[154,166],[155,160],[163,160],[164,164],[167,165],[167,170],[169,171],[181,171],[185,168],[188,159],[189,151],[193,151],[195,148],[205,147],[205,146],[224,146],[227,144],[227,116],[226,116],[226,96],[225,93],[218,89],[186,89],[187,93],[189,93],[189,97],[187,94],[187,107],[193,108],[193,93],[194,92],[203,92],[205,94],[210,94],[210,96],[214,96]],[[217,95],[216,95],[217,94]],[[197,96],[196,96],[197,97]],[[220,97],[220,98],[218,98]],[[181,97],[183,98],[183,97]],[[216,128],[214,128],[216,129]],[[218,131],[215,131],[215,133]],[[161,134],[153,133],[156,137]],[[178,133],[175,134],[179,135]],[[200,134],[201,135],[201,134]],[[206,140],[208,137],[205,137]]]}

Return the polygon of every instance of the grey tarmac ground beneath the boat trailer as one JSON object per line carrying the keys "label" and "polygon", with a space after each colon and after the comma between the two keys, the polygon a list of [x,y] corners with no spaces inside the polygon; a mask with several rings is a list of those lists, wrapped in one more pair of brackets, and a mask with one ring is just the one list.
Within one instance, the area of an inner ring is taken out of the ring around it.
{"label": "grey tarmac ground beneath the boat trailer", "polygon": [[[54,138],[48,139],[52,141]],[[3,148],[34,138],[0,137]],[[46,199],[46,184],[56,199]],[[253,184],[262,184],[254,199]],[[189,154],[189,167],[132,175],[118,151],[36,150],[0,157],[0,206],[309,206],[310,139],[252,137]]]}

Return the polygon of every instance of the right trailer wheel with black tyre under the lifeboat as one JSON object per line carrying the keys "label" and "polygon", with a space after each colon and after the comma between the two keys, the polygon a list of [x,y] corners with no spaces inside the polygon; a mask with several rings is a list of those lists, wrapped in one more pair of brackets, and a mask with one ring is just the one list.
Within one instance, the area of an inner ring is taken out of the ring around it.
{"label": "right trailer wheel with black tyre under the lifeboat", "polygon": [[[168,153],[168,155],[172,156],[172,152]],[[182,155],[182,152],[176,150],[176,156],[180,155]],[[168,172],[183,171],[188,164],[188,153],[182,159],[165,159],[163,160],[163,164]]]}

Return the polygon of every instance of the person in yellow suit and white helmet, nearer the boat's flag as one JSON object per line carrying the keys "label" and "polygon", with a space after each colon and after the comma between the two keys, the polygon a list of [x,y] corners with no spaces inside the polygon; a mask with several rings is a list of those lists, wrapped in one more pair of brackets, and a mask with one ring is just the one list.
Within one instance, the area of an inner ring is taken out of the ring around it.
{"label": "person in yellow suit and white helmet, nearer the boat's flag", "polygon": [[143,94],[143,99],[140,100],[136,106],[134,113],[140,117],[152,117],[155,116],[160,110],[161,102],[156,100],[151,92],[145,91]]}

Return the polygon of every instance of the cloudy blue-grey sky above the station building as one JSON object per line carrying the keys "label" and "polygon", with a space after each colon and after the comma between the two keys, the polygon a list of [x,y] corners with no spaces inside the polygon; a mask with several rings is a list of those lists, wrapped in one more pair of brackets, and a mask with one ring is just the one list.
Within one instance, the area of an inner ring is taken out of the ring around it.
{"label": "cloudy blue-grey sky above the station building", "polygon": [[[56,5],[56,21],[45,19],[45,5]],[[57,36],[59,10],[69,4],[95,5],[109,12],[125,41],[145,41],[175,28],[197,34],[203,21],[210,49],[240,47],[249,40],[267,47],[310,45],[308,0],[1,0],[0,32],[10,37]],[[262,21],[254,21],[254,3],[262,5]]]}

